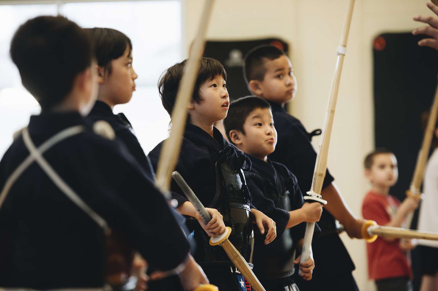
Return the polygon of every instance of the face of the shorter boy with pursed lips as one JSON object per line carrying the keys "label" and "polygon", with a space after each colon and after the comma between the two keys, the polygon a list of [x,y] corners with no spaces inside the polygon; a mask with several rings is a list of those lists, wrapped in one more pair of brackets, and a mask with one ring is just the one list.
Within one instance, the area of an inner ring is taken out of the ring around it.
{"label": "face of the shorter boy with pursed lips", "polygon": [[275,150],[277,131],[271,109],[254,109],[245,119],[245,134],[240,131],[239,141],[233,140],[240,150],[266,161],[266,156]]}

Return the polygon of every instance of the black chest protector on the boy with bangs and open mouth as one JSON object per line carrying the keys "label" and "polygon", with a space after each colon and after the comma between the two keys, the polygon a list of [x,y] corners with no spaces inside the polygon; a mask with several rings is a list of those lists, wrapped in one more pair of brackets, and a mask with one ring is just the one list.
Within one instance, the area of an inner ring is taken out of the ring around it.
{"label": "black chest protector on the boy with bangs and open mouth", "polygon": [[[215,208],[223,215],[225,225],[231,228],[230,242],[252,267],[254,232],[250,217],[251,196],[242,171],[242,168],[249,169],[250,163],[246,157],[236,157],[232,146],[219,152],[215,164],[215,196],[207,207]],[[201,266],[233,266],[221,247],[209,244],[210,238],[196,219],[188,219],[187,225],[197,243],[194,258]]]}

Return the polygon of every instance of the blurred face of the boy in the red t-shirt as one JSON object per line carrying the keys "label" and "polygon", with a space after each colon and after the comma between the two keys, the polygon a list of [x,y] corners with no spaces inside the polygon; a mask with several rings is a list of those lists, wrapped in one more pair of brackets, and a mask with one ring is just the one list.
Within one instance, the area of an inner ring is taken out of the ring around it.
{"label": "blurred face of the boy in the red t-shirt", "polygon": [[371,184],[391,187],[399,178],[397,159],[394,154],[376,154],[371,169],[367,170],[367,178]]}

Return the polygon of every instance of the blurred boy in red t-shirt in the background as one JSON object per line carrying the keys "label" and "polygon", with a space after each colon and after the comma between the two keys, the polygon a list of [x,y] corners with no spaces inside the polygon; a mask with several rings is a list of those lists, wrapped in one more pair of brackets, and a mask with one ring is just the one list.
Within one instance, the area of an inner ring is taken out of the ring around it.
{"label": "blurred boy in red t-shirt in the background", "polygon": [[[362,204],[365,219],[379,225],[402,227],[406,215],[418,206],[414,198],[403,203],[391,195],[389,188],[398,179],[396,156],[385,149],[367,155],[364,161],[365,176],[371,182],[371,190]],[[408,251],[414,245],[410,240],[379,237],[367,244],[368,276],[374,279],[378,291],[412,291],[412,271]]]}

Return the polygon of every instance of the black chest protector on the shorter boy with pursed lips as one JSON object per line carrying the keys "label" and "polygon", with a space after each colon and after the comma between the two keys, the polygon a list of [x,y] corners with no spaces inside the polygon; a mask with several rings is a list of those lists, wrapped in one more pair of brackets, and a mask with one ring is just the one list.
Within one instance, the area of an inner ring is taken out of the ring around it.
{"label": "black chest protector on the shorter boy with pursed lips", "polygon": [[[264,181],[266,195],[274,201],[276,208],[290,210],[291,203],[289,198],[289,189],[291,182],[286,181],[286,186],[277,189],[269,180]],[[295,248],[296,243],[293,242],[291,228],[286,229],[281,237],[277,237],[268,245],[263,243],[263,239],[257,241],[256,259],[254,260],[254,273],[261,280],[272,280],[291,276],[294,272]]]}

